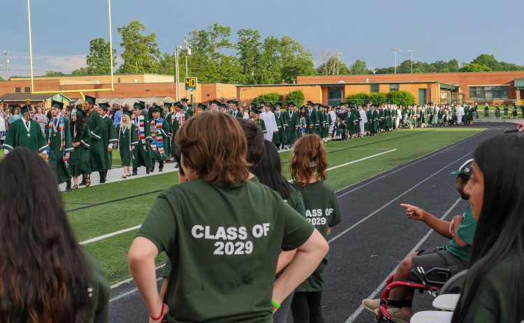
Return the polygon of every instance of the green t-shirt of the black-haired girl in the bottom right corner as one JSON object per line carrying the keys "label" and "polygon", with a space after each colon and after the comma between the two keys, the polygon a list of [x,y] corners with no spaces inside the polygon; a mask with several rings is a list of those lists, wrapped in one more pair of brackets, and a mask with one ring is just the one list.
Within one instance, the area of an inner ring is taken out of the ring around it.
{"label": "green t-shirt of the black-haired girl in the bottom right corner", "polygon": [[[511,254],[493,266],[493,269],[481,281],[479,291],[473,299],[463,322],[523,322],[524,321],[524,280],[509,279],[513,271],[515,255]],[[519,288],[519,299],[513,299],[511,291]],[[464,296],[470,290],[466,281]],[[518,308],[518,320],[509,317],[508,308]]]}

